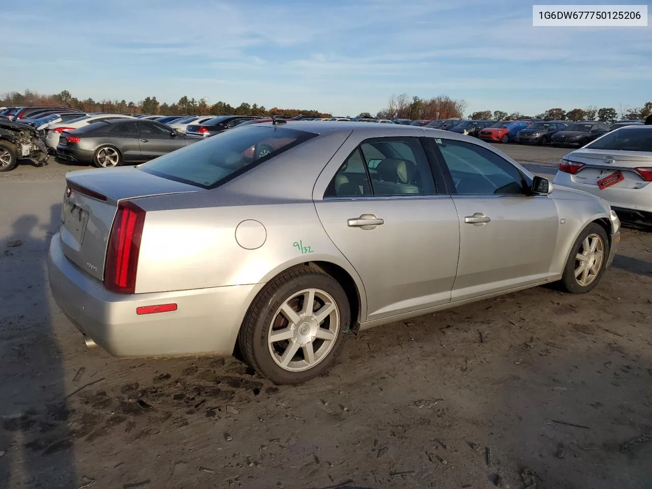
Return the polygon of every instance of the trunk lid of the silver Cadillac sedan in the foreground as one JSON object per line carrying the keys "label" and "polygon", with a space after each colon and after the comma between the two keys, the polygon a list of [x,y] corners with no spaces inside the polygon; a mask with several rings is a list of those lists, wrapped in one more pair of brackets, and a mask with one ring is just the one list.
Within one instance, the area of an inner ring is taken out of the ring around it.
{"label": "trunk lid of the silver Cadillac sedan in the foreground", "polygon": [[72,171],[66,182],[61,246],[70,261],[98,280],[104,278],[106,248],[119,201],[199,190],[134,167]]}

